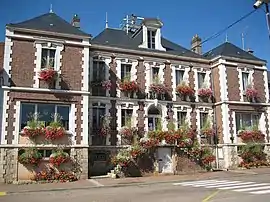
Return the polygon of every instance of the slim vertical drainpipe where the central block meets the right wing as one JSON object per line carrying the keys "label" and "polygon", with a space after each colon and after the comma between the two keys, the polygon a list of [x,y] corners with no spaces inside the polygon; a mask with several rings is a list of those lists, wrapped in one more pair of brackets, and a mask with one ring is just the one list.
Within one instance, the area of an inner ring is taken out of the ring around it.
{"label": "slim vertical drainpipe where the central block meets the right wing", "polygon": [[[213,98],[215,99],[215,87],[214,87],[214,76],[213,76],[213,67],[211,67],[211,86],[212,86],[212,92],[213,92]],[[215,100],[214,100],[215,101]],[[212,107],[213,109],[213,126],[214,126],[214,144],[215,144],[215,153],[216,153],[216,169],[219,169],[219,162],[218,162],[218,134],[217,134],[217,124],[216,124],[216,111],[215,111],[215,105]]]}

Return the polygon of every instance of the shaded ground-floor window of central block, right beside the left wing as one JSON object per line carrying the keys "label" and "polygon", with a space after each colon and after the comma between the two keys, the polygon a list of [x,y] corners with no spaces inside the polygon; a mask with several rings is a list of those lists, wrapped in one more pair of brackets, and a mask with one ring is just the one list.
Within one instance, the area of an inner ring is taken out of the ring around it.
{"label": "shaded ground-floor window of central block, right beside the left wing", "polygon": [[106,105],[105,104],[93,104],[93,122],[92,127],[94,131],[98,131],[102,127],[102,119],[106,113]]}

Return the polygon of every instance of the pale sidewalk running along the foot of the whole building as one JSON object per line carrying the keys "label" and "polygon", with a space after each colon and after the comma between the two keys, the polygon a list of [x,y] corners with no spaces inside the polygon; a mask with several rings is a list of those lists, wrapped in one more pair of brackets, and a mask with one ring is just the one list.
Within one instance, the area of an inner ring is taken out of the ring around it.
{"label": "pale sidewalk running along the foot of the whole building", "polygon": [[[239,170],[238,170],[239,171]],[[79,180],[77,182],[70,183],[47,183],[47,184],[1,184],[0,193],[19,193],[19,192],[39,192],[39,191],[63,191],[63,190],[76,190],[76,189],[90,189],[90,188],[106,188],[106,187],[120,187],[120,186],[133,186],[139,184],[155,184],[155,183],[172,183],[179,181],[192,181],[192,180],[207,180],[215,178],[227,178],[238,175],[251,174],[251,170],[241,170],[240,172],[206,172],[195,173],[185,175],[158,175],[148,177],[136,177],[136,178],[102,178],[102,179],[88,179]],[[270,169],[254,169],[253,174],[256,173],[269,173]]]}

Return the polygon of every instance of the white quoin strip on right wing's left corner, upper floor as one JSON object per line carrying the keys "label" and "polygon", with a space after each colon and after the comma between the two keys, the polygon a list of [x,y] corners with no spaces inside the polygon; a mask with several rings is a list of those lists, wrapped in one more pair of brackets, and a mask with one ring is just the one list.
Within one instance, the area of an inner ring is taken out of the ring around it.
{"label": "white quoin strip on right wing's left corner, upper floor", "polygon": [[228,96],[227,74],[225,65],[220,64],[218,66],[218,70],[219,70],[220,100],[227,101],[229,96]]}

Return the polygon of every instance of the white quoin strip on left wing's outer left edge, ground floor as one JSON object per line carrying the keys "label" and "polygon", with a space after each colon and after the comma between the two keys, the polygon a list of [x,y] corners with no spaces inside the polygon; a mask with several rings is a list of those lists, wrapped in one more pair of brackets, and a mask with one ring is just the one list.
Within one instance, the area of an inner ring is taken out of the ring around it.
{"label": "white quoin strip on left wing's outer left edge, ground floor", "polygon": [[6,127],[8,126],[8,113],[7,110],[9,109],[9,95],[8,91],[3,92],[3,114],[2,114],[2,133],[1,133],[1,144],[7,144],[6,136],[7,130]]}

